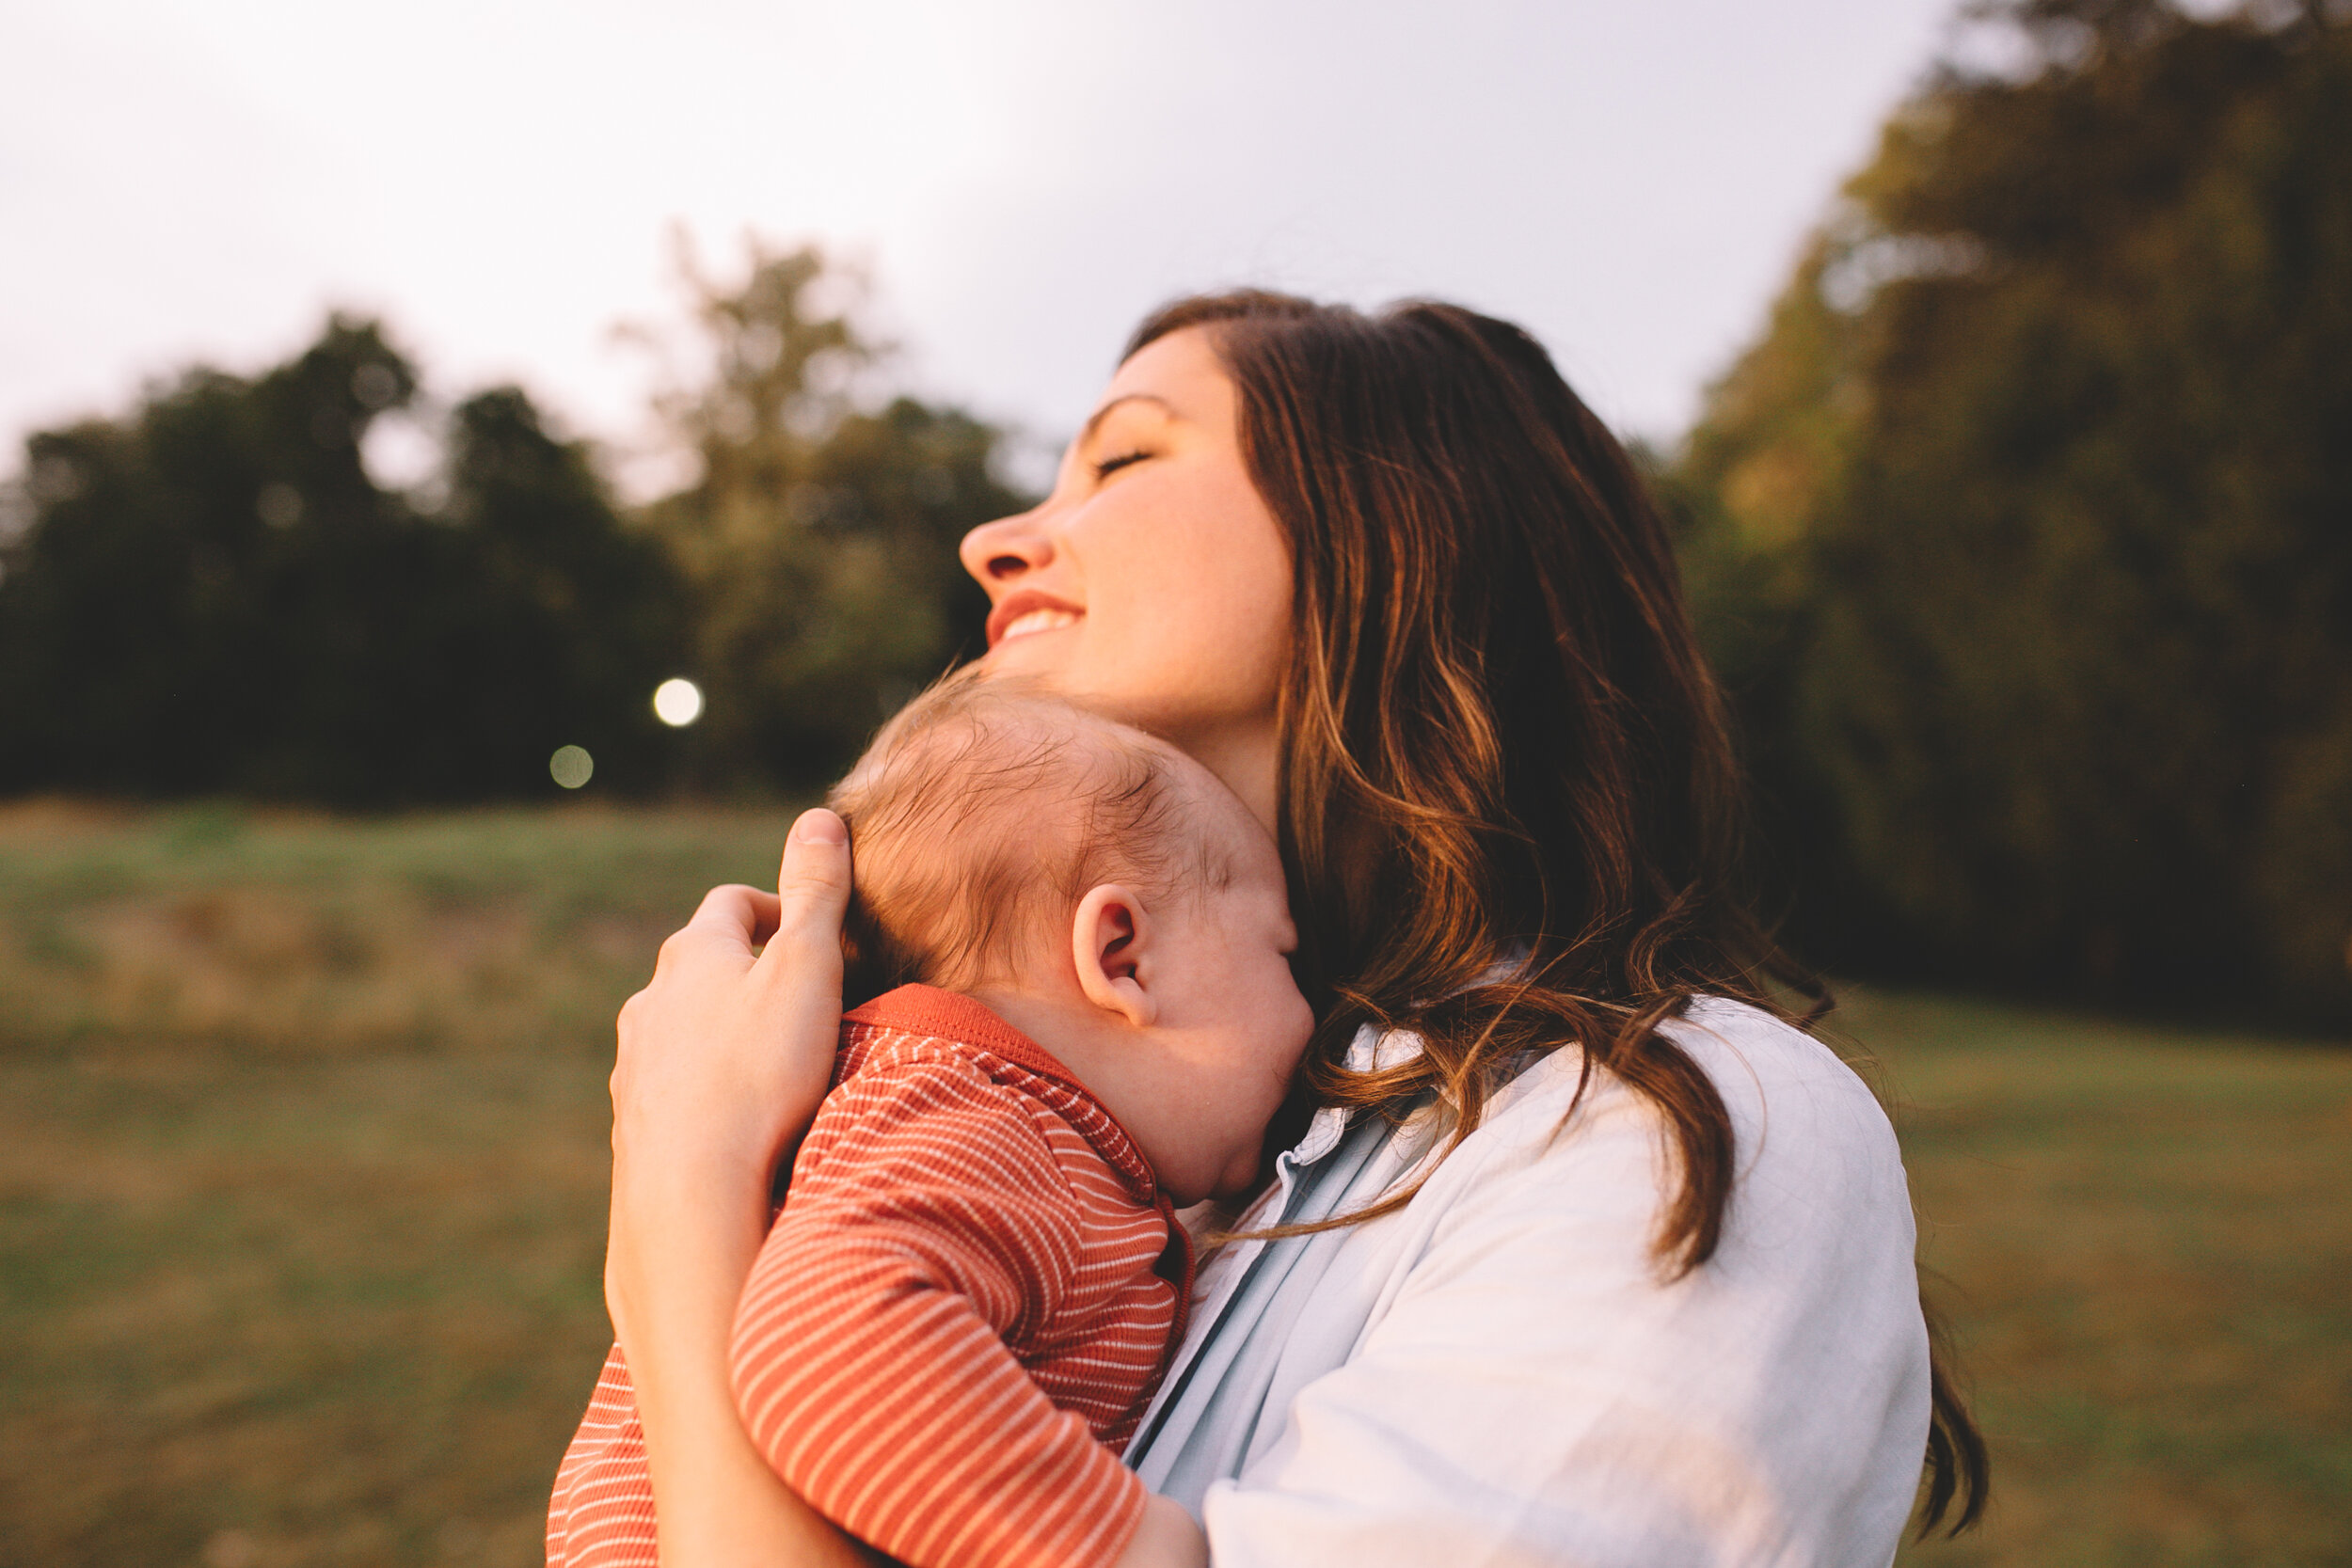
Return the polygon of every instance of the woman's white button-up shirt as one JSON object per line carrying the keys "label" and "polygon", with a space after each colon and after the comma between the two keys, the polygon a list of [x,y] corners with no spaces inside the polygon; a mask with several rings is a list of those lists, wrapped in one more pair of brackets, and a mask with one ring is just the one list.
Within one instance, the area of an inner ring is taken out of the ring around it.
{"label": "woman's white button-up shirt", "polygon": [[[1700,999],[1665,1032],[1731,1110],[1722,1246],[1665,1281],[1656,1110],[1578,1053],[1519,1072],[1402,1211],[1235,1241],[1127,1462],[1216,1568],[1884,1568],[1929,1427],[1893,1128],[1820,1041]],[[1350,1048],[1350,1065],[1418,1051]],[[1564,1117],[1569,1117],[1564,1121]],[[1430,1114],[1324,1110],[1244,1220],[1364,1208]]]}

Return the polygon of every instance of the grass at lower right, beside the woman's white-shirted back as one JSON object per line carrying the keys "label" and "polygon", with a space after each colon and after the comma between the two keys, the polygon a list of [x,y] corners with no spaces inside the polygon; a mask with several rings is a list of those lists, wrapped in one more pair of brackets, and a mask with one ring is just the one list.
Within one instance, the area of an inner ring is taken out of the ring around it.
{"label": "grass at lower right, beside the woman's white-shirted back", "polygon": [[1994,1446],[1987,1526],[1905,1561],[2352,1563],[2352,1051],[1924,997],[1853,1027]]}

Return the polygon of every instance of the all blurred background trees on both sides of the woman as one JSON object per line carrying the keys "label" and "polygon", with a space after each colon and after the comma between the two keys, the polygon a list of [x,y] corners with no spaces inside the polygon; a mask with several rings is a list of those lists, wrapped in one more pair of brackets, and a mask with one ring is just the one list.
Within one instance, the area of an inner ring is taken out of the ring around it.
{"label": "all blurred background trees on both sides of the woman", "polygon": [[[1661,480],[1788,933],[1849,973],[2352,1018],[2352,16],[1983,0]],[[687,270],[694,477],[379,327],[28,442],[0,792],[793,788],[976,639],[1002,433],[873,397],[816,252]],[[708,693],[666,731],[656,682]]]}

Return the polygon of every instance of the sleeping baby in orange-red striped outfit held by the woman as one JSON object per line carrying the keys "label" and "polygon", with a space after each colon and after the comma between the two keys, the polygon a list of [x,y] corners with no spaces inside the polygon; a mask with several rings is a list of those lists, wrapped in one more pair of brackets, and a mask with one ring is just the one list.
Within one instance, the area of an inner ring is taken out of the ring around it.
{"label": "sleeping baby in orange-red striped outfit held by the woman", "polygon": [[[1249,1190],[1312,1016],[1282,863],[1197,762],[950,677],[833,792],[854,846],[835,1086],[736,1309],[753,1441],[915,1568],[1108,1568],[1117,1453],[1183,1333],[1174,1208]],[[1152,1505],[1174,1507],[1174,1505]],[[614,1347],[548,1563],[654,1568]]]}

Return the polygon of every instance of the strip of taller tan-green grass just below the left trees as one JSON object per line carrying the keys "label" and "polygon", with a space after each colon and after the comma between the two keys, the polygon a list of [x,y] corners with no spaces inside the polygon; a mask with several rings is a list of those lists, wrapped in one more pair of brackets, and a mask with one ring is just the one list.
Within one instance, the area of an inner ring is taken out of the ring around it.
{"label": "strip of taller tan-green grass just below the left trees", "polygon": [[781,811],[0,809],[0,1048],[604,1048],[715,882],[771,882]]}

